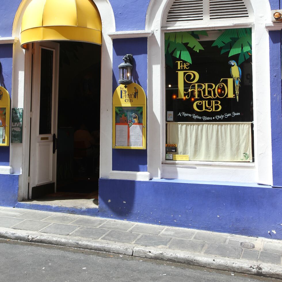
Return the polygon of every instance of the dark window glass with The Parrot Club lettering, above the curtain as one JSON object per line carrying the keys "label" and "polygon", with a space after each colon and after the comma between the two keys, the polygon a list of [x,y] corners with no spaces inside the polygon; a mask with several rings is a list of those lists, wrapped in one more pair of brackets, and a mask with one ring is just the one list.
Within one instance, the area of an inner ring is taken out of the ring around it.
{"label": "dark window glass with The Parrot Club lettering, above the curtain", "polygon": [[[230,123],[234,128],[248,123],[252,150],[251,28],[167,32],[164,43],[169,128],[173,123]],[[238,161],[253,161],[249,151],[240,155]]]}

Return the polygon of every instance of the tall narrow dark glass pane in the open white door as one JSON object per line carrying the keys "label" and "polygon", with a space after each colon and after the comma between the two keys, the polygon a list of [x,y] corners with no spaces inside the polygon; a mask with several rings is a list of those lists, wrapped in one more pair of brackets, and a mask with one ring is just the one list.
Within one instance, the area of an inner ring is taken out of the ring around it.
{"label": "tall narrow dark glass pane in the open white door", "polygon": [[53,52],[41,48],[39,134],[51,134]]}

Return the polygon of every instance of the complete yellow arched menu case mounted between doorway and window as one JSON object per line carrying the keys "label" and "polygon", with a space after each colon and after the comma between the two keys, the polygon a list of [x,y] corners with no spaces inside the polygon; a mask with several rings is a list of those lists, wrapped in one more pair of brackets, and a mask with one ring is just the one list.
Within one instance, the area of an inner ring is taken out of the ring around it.
{"label": "complete yellow arched menu case mounted between doorway and window", "polygon": [[113,94],[113,148],[146,149],[146,95],[137,83]]}

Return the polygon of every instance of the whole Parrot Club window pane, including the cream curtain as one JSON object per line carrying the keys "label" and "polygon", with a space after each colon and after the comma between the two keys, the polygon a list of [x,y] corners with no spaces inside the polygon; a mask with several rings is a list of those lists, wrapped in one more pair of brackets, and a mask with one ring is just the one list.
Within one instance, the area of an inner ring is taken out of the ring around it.
{"label": "whole Parrot Club window pane, including the cream curtain", "polygon": [[166,159],[252,162],[251,28],[165,33]]}

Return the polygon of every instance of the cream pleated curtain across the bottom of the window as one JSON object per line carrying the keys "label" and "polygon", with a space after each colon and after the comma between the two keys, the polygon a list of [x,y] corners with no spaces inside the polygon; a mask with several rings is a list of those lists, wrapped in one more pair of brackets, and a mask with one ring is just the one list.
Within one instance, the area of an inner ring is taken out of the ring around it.
{"label": "cream pleated curtain across the bottom of the window", "polygon": [[252,161],[251,122],[168,122],[167,143],[190,161]]}

